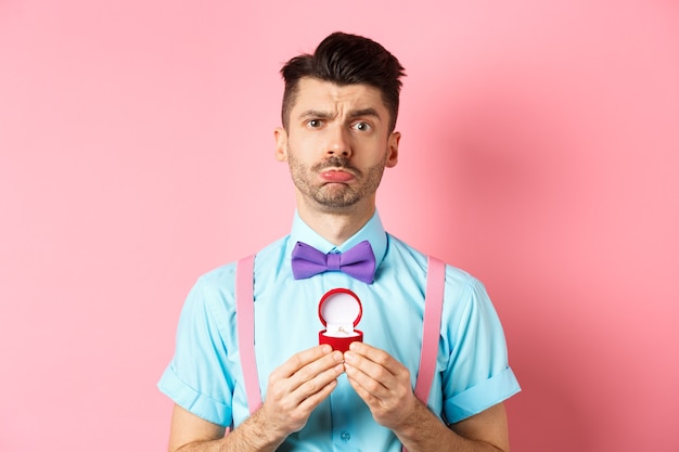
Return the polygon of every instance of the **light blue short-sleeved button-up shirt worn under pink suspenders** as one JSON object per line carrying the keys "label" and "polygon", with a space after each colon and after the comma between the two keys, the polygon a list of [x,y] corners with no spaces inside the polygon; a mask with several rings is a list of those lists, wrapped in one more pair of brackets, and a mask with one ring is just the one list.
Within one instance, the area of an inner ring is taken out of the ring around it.
{"label": "light blue short-sleeved button-up shirt worn under pink suspenders", "polygon": [[[375,281],[366,284],[341,272],[294,280],[291,253],[297,241],[323,253],[345,251],[369,241]],[[268,376],[294,353],[318,345],[319,300],[330,289],[349,288],[361,300],[357,328],[363,341],[385,350],[410,371],[414,387],[426,285],[426,256],[387,234],[379,215],[351,238],[334,246],[295,215],[291,234],[257,253],[254,271],[255,354],[262,400]],[[175,357],[158,383],[177,404],[221,426],[247,416],[240,364],[234,299],[235,263],[201,276],[179,320]],[[520,390],[508,365],[502,326],[481,282],[447,266],[437,372],[428,408],[456,423]],[[280,450],[400,451],[396,436],[380,426],[342,375],[332,395]]]}

